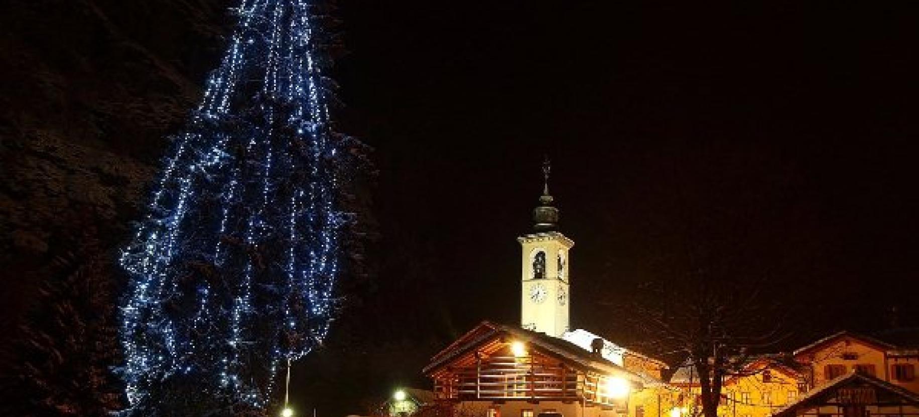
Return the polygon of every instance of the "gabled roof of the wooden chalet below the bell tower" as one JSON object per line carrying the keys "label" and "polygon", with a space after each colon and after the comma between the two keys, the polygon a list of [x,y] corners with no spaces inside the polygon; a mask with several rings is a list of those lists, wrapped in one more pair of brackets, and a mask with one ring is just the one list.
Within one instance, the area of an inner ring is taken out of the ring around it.
{"label": "gabled roof of the wooden chalet below the bell tower", "polygon": [[565,361],[579,366],[584,366],[604,374],[619,374],[630,377],[646,385],[661,384],[661,381],[647,375],[630,372],[625,367],[618,366],[607,359],[593,355],[580,346],[571,342],[552,337],[546,333],[533,332],[520,327],[498,324],[491,321],[482,321],[471,331],[462,335],[456,342],[434,355],[431,362],[425,366],[423,372],[430,374],[440,366],[447,365],[454,358],[471,352],[477,346],[496,337],[505,337],[539,347],[542,351],[556,355]]}

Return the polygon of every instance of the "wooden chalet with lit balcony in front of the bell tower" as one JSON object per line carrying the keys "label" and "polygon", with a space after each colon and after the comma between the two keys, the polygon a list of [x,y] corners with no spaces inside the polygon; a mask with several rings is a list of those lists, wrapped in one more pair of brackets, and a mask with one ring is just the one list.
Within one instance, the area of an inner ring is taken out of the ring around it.
{"label": "wooden chalet with lit balcony in front of the bell tower", "polygon": [[[630,389],[660,384],[599,352],[490,321],[435,355],[424,372],[434,380],[437,401],[491,417],[539,412],[612,416],[624,410]],[[626,395],[617,392],[623,389]]]}

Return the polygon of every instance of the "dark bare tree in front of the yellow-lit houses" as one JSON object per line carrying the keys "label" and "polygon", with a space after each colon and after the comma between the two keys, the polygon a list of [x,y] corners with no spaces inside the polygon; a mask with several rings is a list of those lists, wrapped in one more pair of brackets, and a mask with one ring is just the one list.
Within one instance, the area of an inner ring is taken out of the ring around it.
{"label": "dark bare tree in front of the yellow-lit houses", "polygon": [[[722,382],[748,352],[775,348],[796,325],[812,212],[794,170],[757,149],[674,153],[635,222],[634,297],[609,304],[641,347],[686,361],[701,390],[694,412],[716,417]],[[657,169],[661,169],[658,167]]]}

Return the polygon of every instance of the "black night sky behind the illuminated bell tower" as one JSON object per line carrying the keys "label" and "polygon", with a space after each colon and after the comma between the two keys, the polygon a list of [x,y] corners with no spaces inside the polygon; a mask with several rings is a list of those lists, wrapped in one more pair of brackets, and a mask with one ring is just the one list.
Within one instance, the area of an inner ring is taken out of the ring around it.
{"label": "black night sky behind the illuminated bell tower", "polygon": [[812,291],[794,343],[882,329],[894,307],[919,325],[914,15],[675,3],[339,2],[337,117],[375,149],[375,238],[328,345],[295,368],[298,407],[362,412],[424,387],[426,359],[475,323],[519,320],[516,237],[546,155],[573,326],[639,342],[624,306],[667,279],[649,265],[688,239],[687,212],[723,226],[693,239],[743,242],[789,295]]}

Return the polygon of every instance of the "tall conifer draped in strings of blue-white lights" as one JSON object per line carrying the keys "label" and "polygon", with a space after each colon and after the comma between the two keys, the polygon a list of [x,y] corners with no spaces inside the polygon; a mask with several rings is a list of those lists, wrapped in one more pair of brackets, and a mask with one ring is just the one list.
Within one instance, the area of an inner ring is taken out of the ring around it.
{"label": "tall conifer draped in strings of blue-white lights", "polygon": [[264,410],[278,372],[322,343],[335,312],[359,144],[330,121],[327,6],[243,0],[234,12],[121,256],[123,374],[138,415]]}

